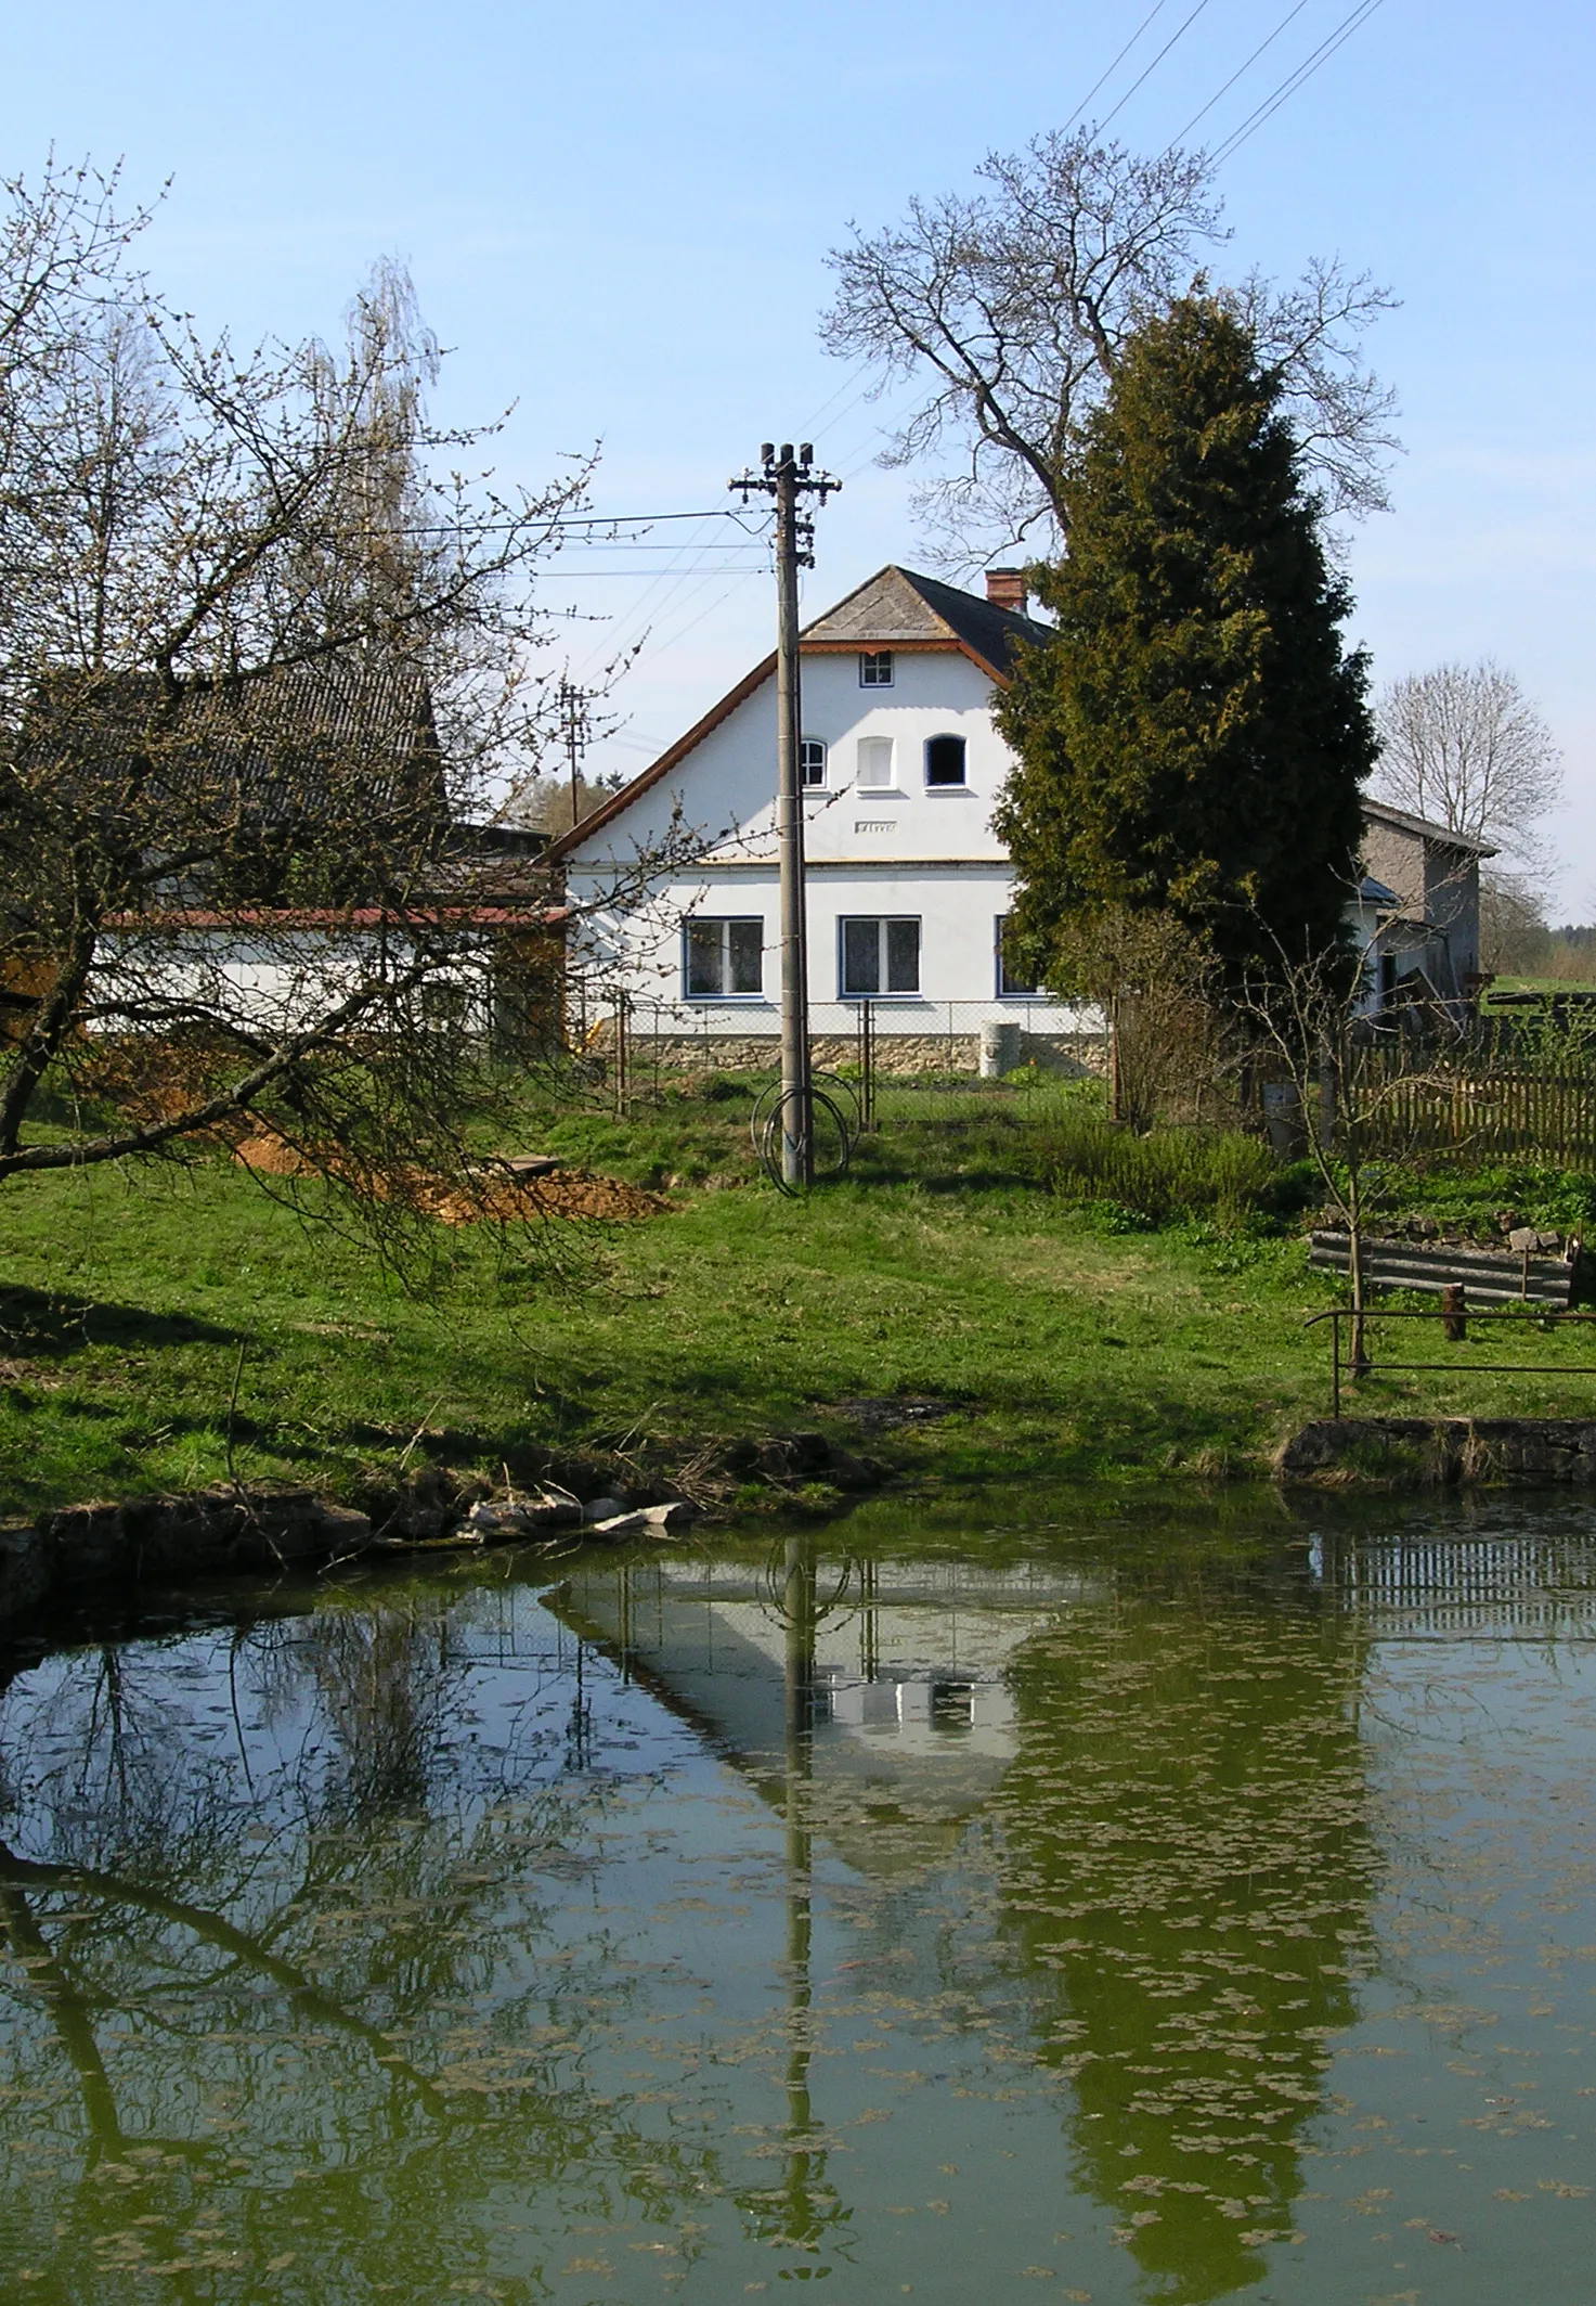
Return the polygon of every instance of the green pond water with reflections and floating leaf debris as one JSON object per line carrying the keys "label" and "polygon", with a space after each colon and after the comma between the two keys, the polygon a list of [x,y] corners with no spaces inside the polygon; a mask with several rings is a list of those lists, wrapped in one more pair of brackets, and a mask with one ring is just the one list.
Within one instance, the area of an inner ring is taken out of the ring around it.
{"label": "green pond water with reflections and floating leaf debris", "polygon": [[1589,1513],[1004,1517],[12,1660],[2,2294],[1589,2297]]}

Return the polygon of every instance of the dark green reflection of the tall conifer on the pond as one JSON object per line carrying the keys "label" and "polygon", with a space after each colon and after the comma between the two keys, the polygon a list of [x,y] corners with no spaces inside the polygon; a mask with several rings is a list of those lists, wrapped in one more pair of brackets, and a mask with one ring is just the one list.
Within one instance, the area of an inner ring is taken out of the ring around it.
{"label": "dark green reflection of the tall conifer on the pond", "polygon": [[1011,1670],[1000,1808],[1046,2057],[1073,2075],[1080,2184],[1152,2294],[1216,2299],[1292,2230],[1327,2034],[1352,2020],[1375,1852],[1345,1623],[1128,1596]]}

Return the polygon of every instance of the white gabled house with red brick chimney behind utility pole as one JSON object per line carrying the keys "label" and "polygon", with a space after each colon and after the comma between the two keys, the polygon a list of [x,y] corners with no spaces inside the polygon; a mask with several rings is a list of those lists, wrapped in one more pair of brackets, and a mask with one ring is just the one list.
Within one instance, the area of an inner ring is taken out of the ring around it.
{"label": "white gabled house with red brick chimney behind utility pole", "polygon": [[[1048,632],[1020,600],[1009,570],[979,600],[884,567],[804,630],[808,994],[822,1052],[852,1035],[868,998],[887,1065],[951,1056],[974,1070],[995,1022],[1013,1026],[1009,1063],[1099,1063],[1096,1015],[1004,966],[1013,867],[993,805],[1013,756],[993,696],[1016,643]],[[774,676],[772,655],[548,849],[583,913],[578,975],[622,987],[633,1022],[721,1063],[772,1054],[778,1031]]]}

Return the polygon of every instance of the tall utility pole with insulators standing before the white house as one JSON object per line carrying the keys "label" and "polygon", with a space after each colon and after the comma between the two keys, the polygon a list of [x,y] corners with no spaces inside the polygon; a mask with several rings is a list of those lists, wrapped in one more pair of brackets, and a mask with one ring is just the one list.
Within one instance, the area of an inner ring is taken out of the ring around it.
{"label": "tall utility pole with insulators standing before the white house", "polygon": [[728,482],[748,496],[776,500],[776,862],[781,869],[781,1181],[808,1185],[813,1176],[813,1109],[808,1095],[808,925],[804,906],[804,789],[799,745],[804,701],[799,678],[797,572],[815,565],[815,523],[799,510],[804,496],[822,505],[841,480],[813,470],[804,440],[760,447],[760,470]]}

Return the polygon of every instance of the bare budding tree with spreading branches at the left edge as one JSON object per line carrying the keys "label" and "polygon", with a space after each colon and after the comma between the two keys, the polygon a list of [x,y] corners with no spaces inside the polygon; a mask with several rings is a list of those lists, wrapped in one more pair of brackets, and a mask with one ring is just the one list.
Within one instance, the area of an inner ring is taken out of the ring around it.
{"label": "bare budding tree with spreading branches at the left edge", "polygon": [[253,1116],[398,1220],[470,1176],[493,978],[548,909],[456,828],[546,736],[534,579],[590,466],[449,470],[481,436],[426,415],[398,267],[343,348],[242,353],[159,309],[94,180],[9,203],[0,1178]]}

